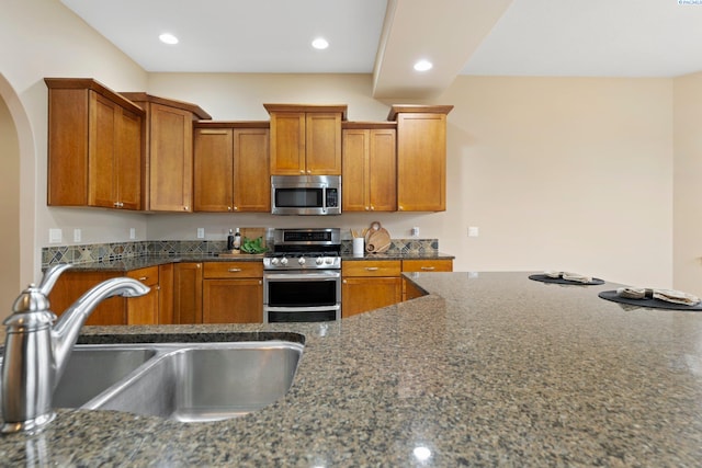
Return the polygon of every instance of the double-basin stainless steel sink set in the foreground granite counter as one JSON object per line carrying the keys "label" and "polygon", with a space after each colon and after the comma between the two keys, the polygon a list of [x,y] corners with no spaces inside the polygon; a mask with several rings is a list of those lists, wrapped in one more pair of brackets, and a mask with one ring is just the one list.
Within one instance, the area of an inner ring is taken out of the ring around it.
{"label": "double-basin stainless steel sink set in the foreground granite counter", "polygon": [[287,393],[303,349],[280,340],[79,344],[54,392],[54,407],[181,422],[236,418]]}

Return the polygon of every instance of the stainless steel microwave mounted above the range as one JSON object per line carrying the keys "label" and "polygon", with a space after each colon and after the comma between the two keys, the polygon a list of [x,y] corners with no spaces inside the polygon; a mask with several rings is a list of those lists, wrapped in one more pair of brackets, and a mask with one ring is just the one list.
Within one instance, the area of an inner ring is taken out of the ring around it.
{"label": "stainless steel microwave mounted above the range", "polygon": [[340,215],[341,175],[272,175],[273,215]]}

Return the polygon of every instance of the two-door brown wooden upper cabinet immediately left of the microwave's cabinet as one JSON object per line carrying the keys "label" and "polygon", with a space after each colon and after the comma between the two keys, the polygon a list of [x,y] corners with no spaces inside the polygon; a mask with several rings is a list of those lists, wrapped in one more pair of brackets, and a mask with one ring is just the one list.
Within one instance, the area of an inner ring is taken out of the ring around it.
{"label": "two-door brown wooden upper cabinet immediately left of the microwave's cabinet", "polygon": [[199,122],[195,212],[271,210],[268,122]]}

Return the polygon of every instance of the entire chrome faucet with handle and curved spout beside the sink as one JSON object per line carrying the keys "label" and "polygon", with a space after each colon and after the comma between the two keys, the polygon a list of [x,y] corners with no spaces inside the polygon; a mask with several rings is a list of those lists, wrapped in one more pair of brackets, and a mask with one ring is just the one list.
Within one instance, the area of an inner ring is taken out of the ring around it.
{"label": "entire chrome faucet with handle and curved spout beside the sink", "polygon": [[[30,286],[12,306],[4,321],[1,418],[3,434],[36,432],[55,418],[52,395],[80,329],[90,313],[112,296],[135,297],[149,292],[136,279],[106,279],[83,294],[56,321],[49,310],[48,294],[69,264],[52,266],[38,286]],[[56,323],[54,324],[54,322]]]}

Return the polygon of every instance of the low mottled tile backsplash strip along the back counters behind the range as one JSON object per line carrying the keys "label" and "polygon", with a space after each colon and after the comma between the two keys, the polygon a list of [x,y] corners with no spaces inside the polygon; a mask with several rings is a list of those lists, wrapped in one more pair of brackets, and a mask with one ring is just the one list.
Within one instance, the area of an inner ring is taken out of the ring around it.
{"label": "low mottled tile backsplash strip along the back counters behind the range", "polygon": [[[212,255],[224,252],[224,240],[162,240],[139,242],[58,246],[42,249],[42,267],[57,263],[92,263],[135,259],[147,255]],[[432,253],[439,251],[438,239],[393,239],[388,254]],[[341,254],[351,254],[351,240],[341,241]]]}

